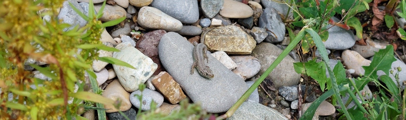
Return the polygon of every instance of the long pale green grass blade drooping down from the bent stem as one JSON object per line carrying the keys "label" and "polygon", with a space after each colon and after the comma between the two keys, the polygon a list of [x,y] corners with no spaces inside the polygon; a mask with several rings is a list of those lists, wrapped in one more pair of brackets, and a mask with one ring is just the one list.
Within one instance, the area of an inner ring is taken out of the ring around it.
{"label": "long pale green grass blade drooping down from the bent stem", "polygon": [[[350,114],[348,114],[346,106],[343,103],[343,100],[340,97],[340,92],[339,92],[339,89],[338,89],[338,86],[337,86],[337,81],[336,81],[336,78],[334,76],[334,72],[331,71],[331,69],[330,69],[330,62],[328,60],[327,50],[326,50],[326,47],[324,47],[322,39],[317,34],[317,32],[315,32],[311,28],[305,28],[305,31],[308,32],[313,37],[313,42],[316,44],[317,50],[320,52],[320,55],[322,56],[322,59],[326,63],[328,74],[330,74],[331,85],[333,87],[334,94],[337,97],[338,103],[340,104],[341,108],[343,109],[344,114],[346,114],[346,116],[350,116]],[[347,119],[352,120],[350,117],[347,117]]]}

